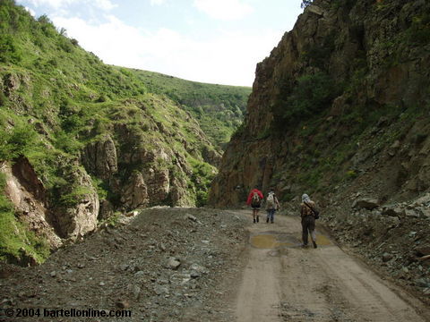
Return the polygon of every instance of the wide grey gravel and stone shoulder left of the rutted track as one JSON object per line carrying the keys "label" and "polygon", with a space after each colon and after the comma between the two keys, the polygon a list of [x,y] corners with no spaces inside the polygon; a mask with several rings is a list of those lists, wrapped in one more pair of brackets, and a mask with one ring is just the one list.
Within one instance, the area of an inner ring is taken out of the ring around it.
{"label": "wide grey gravel and stone shoulder left of the rutted track", "polygon": [[236,258],[245,247],[242,217],[212,209],[159,208],[126,220],[58,250],[39,267],[1,266],[0,307],[132,311],[131,318],[99,321],[233,319],[219,303],[230,296],[223,292],[223,276],[241,269]]}

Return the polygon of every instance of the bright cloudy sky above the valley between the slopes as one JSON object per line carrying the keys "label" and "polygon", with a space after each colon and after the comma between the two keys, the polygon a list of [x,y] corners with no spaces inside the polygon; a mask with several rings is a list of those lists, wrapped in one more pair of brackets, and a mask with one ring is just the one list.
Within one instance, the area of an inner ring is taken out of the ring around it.
{"label": "bright cloudy sky above the valley between the slopes", "polygon": [[252,86],[301,0],[16,0],[106,64]]}

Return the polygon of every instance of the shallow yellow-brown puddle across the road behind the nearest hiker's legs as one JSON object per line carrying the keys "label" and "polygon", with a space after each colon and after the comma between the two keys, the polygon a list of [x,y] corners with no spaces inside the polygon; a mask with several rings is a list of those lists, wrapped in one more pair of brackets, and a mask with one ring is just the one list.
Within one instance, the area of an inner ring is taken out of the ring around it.
{"label": "shallow yellow-brown puddle across the road behind the nearest hiker's legs", "polygon": [[[301,244],[301,236],[286,233],[266,233],[251,236],[251,245],[258,249],[273,250],[280,247],[297,247]],[[316,235],[319,246],[329,246],[331,241],[324,235]]]}

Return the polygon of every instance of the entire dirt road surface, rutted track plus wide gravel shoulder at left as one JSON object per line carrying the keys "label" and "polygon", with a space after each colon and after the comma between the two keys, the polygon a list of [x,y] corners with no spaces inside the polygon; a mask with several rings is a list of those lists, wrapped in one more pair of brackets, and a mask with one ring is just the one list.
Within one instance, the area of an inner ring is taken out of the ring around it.
{"label": "entire dirt road surface, rutted track plus wide gravel shoulder at left", "polygon": [[131,313],[64,322],[430,321],[430,308],[323,234],[318,249],[300,248],[297,217],[254,225],[249,211],[160,208],[127,223],[39,267],[0,263],[0,321],[46,319],[20,309]]}

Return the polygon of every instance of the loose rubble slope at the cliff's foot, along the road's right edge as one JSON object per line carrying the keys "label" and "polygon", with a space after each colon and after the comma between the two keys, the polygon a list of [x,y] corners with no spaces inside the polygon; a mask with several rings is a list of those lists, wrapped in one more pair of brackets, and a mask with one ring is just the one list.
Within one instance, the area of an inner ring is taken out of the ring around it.
{"label": "loose rubble slope at the cliff's foot, along the road's right edge", "polygon": [[337,203],[323,220],[341,243],[391,275],[396,282],[411,286],[424,298],[430,294],[430,193],[392,204],[362,198]]}

